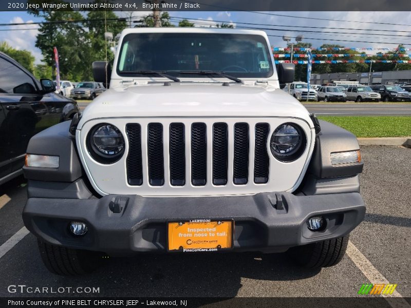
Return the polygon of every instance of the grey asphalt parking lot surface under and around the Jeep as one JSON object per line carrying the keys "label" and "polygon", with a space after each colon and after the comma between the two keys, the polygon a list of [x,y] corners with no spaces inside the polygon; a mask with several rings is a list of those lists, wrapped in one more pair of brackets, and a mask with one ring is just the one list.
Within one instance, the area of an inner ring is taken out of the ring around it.
{"label": "grey asphalt parking lot surface under and around the Jeep", "polygon": [[[285,254],[141,255],[107,259],[93,274],[67,278],[47,272],[35,237],[28,234],[0,257],[0,297],[85,295],[9,293],[8,286],[17,284],[99,287],[99,293],[87,296],[353,297],[363,283],[380,280],[398,284],[395,296],[409,298],[411,148],[362,147],[362,158],[367,214],[337,266],[302,269]],[[22,229],[25,200],[24,179],[0,187],[0,245]]]}

